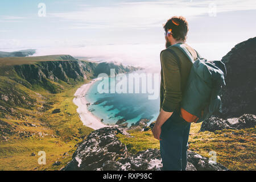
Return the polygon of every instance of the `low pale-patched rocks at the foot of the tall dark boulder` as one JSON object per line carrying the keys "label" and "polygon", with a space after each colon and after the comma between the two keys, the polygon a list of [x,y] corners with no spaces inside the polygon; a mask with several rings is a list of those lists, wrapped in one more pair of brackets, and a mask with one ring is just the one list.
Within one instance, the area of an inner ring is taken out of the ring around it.
{"label": "low pale-patched rocks at the foot of the tall dark boulder", "polygon": [[239,118],[221,119],[217,117],[210,117],[206,119],[200,131],[216,131],[223,129],[245,129],[255,127],[256,116],[254,114],[243,114]]}

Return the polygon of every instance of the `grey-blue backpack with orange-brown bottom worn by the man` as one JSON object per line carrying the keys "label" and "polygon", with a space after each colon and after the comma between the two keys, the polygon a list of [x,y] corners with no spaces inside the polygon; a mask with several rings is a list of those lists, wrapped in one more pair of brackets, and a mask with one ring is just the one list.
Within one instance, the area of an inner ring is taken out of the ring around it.
{"label": "grey-blue backpack with orange-brown bottom worn by the man", "polygon": [[[201,58],[197,51],[197,59],[194,61],[191,53],[182,44],[170,47],[179,48],[192,62],[180,104],[180,117],[190,123],[199,123],[214,113],[221,112],[220,92],[225,85],[225,64],[222,61]],[[169,48],[167,50],[175,56],[180,69],[180,59],[175,51]]]}

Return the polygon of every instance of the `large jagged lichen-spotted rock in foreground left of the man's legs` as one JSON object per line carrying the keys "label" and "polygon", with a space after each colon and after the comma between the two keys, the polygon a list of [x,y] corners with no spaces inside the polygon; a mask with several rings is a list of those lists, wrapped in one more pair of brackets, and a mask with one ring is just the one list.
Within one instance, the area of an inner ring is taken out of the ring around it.
{"label": "large jagged lichen-spotted rock in foreground left of the man's legs", "polygon": [[127,157],[125,144],[115,137],[118,133],[129,135],[118,127],[104,127],[90,133],[64,170],[95,170],[102,168],[105,162]]}

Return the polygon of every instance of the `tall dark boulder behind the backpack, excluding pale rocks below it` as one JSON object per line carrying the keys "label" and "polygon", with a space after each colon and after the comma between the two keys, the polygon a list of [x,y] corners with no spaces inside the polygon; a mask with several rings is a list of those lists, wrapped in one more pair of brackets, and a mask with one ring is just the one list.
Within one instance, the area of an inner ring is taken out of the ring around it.
{"label": "tall dark boulder behind the backpack, excluding pale rocks below it", "polygon": [[221,61],[226,65],[221,118],[256,114],[256,37],[237,44]]}

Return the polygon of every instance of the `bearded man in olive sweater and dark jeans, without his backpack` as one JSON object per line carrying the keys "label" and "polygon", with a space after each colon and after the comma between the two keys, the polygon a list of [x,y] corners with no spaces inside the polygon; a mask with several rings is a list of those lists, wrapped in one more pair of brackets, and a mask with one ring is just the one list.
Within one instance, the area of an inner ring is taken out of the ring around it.
{"label": "bearded man in olive sweater and dark jeans, without his backpack", "polygon": [[[160,53],[161,84],[160,84],[160,114],[152,129],[154,137],[160,140],[160,154],[164,170],[185,170],[187,166],[187,146],[190,123],[180,117],[180,102],[192,67],[191,61],[174,44],[184,44],[196,60],[197,53],[185,42],[188,32],[188,22],[183,16],[168,19],[163,26],[166,48]],[[180,68],[180,69],[179,69]]]}

